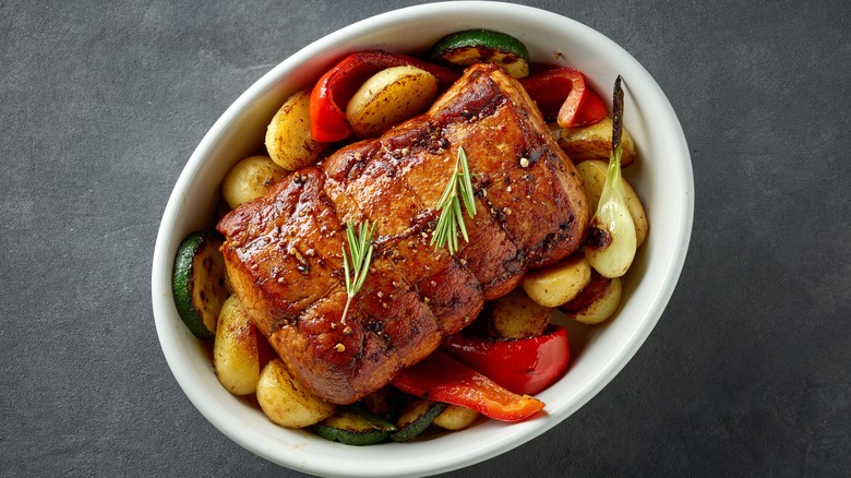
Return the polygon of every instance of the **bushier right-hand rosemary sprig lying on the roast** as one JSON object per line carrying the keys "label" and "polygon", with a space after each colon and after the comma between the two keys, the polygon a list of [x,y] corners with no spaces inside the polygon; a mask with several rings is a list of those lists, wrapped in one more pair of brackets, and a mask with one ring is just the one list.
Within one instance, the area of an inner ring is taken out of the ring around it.
{"label": "bushier right-hand rosemary sprig lying on the roast", "polygon": [[450,177],[450,182],[446,184],[443,195],[438,201],[436,208],[441,212],[441,216],[431,236],[431,246],[436,246],[438,248],[446,247],[450,254],[454,254],[458,250],[458,231],[460,231],[465,241],[470,241],[469,237],[467,237],[467,227],[464,225],[462,202],[471,219],[476,215],[476,201],[472,196],[472,182],[470,180],[470,168],[467,165],[467,154],[463,147],[459,147],[455,170]]}

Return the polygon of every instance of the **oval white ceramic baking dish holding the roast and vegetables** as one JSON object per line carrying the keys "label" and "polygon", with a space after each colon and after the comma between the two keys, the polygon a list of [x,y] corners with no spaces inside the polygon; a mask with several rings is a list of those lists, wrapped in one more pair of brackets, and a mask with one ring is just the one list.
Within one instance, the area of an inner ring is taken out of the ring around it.
{"label": "oval white ceramic baking dish holding the roast and vegetables", "polygon": [[[208,354],[180,321],[171,299],[175,251],[190,231],[209,227],[227,169],[263,143],[265,127],[290,94],[309,87],[344,55],[368,48],[416,52],[441,36],[471,27],[518,37],[532,59],[582,70],[608,97],[616,74],[626,91],[625,126],[639,164],[625,175],[644,200],[650,235],[625,280],[618,316],[572,337],[566,375],[538,396],[546,416],[520,423],[484,421],[460,432],[408,444],[347,446],[310,431],[288,430],[223,389]],[[411,32],[417,32],[411,35]],[[671,105],[647,71],[600,33],[558,14],[508,3],[445,2],[377,15],[304,47],[251,85],[216,121],[190,157],[166,206],[156,241],[152,296],[163,352],[180,386],[221,432],[274,463],[326,476],[422,476],[482,462],[559,425],[626,365],[659,320],[685,260],[694,214],[688,148]]]}

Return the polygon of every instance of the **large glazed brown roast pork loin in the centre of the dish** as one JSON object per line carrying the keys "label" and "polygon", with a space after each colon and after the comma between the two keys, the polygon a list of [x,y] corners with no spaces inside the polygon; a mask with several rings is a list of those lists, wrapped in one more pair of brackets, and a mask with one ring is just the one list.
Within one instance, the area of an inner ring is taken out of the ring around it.
{"label": "large glazed brown roast pork loin in the centre of the dish", "polygon": [[[430,246],[435,204],[466,152],[478,213],[451,255]],[[345,226],[376,223],[370,273],[346,303]],[[431,109],[296,171],[224,217],[233,290],[286,366],[349,404],[458,332],[527,268],[571,254],[588,201],[573,164],[519,84],[469,68]]]}

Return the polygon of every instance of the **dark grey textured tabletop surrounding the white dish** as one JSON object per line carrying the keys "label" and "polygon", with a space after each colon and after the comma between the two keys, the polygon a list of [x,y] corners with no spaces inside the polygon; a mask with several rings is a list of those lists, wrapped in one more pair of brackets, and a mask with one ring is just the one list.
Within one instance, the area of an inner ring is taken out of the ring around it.
{"label": "dark grey textured tabletop surrounding the white dish", "polygon": [[[0,474],[300,476],[236,445],[159,349],[151,261],[189,155],[275,63],[409,1],[0,1]],[[851,7],[529,1],[611,37],[690,143],[667,312],[543,437],[446,476],[851,469]]]}

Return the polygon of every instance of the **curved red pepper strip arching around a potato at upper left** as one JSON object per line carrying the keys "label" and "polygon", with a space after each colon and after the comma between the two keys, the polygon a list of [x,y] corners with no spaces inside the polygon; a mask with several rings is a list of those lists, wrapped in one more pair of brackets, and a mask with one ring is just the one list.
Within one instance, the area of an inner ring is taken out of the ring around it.
{"label": "curved red pepper strip arching around a potato at upper left", "polygon": [[355,92],[381,70],[406,64],[436,76],[442,89],[460,77],[453,70],[406,55],[382,50],[351,53],[322,75],[311,92],[310,135],[313,140],[331,143],[348,138],[351,127],[346,120],[346,106]]}

